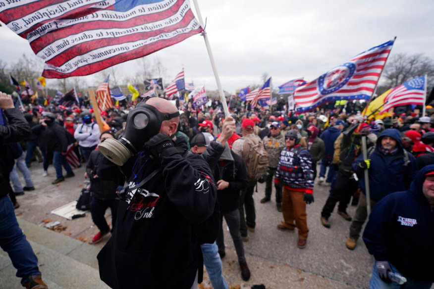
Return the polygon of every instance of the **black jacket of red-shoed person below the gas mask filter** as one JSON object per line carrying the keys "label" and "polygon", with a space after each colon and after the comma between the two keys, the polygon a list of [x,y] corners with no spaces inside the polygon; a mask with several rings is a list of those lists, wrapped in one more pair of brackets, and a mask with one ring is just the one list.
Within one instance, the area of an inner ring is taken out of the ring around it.
{"label": "black jacket of red-shoed person below the gas mask filter", "polygon": [[104,155],[98,149],[92,151],[86,165],[86,173],[91,181],[92,196],[101,199],[114,199],[117,197],[116,189],[118,186],[117,179],[102,180],[94,178],[97,174],[98,165],[104,159]]}

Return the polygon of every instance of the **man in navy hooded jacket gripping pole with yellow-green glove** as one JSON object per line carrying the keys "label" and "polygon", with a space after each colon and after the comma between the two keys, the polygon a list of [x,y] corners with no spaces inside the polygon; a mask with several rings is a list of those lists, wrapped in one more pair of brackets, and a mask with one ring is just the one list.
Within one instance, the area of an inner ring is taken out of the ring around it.
{"label": "man in navy hooded jacket gripping pole with yellow-green glove", "polygon": [[363,154],[360,154],[353,162],[352,169],[359,177],[362,194],[346,242],[350,250],[356,247],[357,239],[368,217],[365,169],[369,172],[370,201],[371,207],[374,207],[386,195],[410,188],[417,172],[417,162],[413,155],[403,149],[399,131],[386,129],[380,134],[375,148],[368,150],[368,159],[363,160]]}

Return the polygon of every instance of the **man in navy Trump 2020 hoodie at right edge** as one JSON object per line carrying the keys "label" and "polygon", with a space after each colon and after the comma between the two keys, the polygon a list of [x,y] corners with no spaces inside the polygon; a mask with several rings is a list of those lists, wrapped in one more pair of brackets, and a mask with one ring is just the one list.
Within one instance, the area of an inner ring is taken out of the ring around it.
{"label": "man in navy Trump 2020 hoodie at right edge", "polygon": [[[408,191],[382,198],[363,233],[374,255],[370,288],[429,289],[434,282],[434,165],[421,169]],[[401,287],[388,272],[407,279]]]}

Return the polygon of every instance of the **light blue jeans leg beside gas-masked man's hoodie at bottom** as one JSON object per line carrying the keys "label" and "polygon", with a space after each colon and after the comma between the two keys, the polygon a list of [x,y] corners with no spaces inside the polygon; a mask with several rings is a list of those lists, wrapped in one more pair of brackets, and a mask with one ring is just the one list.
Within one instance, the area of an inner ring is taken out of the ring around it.
{"label": "light blue jeans leg beside gas-masked man's hoodie at bottom", "polygon": [[204,255],[204,264],[210,276],[211,284],[215,289],[227,289],[226,280],[222,275],[222,265],[216,242],[212,244],[201,245],[202,254]]}

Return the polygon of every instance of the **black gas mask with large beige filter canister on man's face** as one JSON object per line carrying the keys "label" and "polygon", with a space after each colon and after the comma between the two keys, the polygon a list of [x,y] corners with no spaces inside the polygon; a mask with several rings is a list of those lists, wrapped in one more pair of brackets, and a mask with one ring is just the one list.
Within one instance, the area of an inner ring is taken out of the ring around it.
{"label": "black gas mask with large beige filter canister on man's face", "polygon": [[179,116],[178,111],[162,113],[154,106],[146,104],[146,100],[128,113],[125,132],[119,140],[107,139],[99,146],[101,153],[119,166],[144,149],[144,144],[160,132],[164,120]]}

